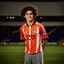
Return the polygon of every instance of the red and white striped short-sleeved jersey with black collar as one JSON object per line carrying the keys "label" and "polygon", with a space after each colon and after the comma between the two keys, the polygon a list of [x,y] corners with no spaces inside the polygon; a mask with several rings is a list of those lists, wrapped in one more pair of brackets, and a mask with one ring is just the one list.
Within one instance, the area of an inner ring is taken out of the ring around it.
{"label": "red and white striped short-sleeved jersey with black collar", "polygon": [[47,38],[47,32],[39,22],[32,26],[24,24],[20,27],[20,39],[25,40],[25,52],[28,54],[42,52],[42,39]]}

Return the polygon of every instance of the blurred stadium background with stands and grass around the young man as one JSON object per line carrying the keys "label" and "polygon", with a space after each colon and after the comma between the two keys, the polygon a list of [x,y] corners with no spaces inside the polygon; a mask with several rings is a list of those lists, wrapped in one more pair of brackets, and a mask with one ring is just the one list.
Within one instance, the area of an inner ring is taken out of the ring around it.
{"label": "blurred stadium background with stands and grass around the young man", "polygon": [[0,2],[0,64],[23,64],[24,42],[19,38],[21,8],[27,4],[39,8],[37,21],[49,35],[44,49],[45,64],[64,63],[64,2]]}

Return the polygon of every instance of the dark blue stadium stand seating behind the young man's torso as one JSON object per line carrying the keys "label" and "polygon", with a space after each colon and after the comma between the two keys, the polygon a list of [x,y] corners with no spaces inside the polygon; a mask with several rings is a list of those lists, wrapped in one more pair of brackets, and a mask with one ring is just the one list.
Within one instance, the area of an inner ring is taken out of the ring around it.
{"label": "dark blue stadium stand seating behind the young man's torso", "polygon": [[[20,26],[0,26],[0,42],[22,42],[19,38]],[[49,35],[48,42],[58,42],[64,39],[64,26],[45,26]]]}

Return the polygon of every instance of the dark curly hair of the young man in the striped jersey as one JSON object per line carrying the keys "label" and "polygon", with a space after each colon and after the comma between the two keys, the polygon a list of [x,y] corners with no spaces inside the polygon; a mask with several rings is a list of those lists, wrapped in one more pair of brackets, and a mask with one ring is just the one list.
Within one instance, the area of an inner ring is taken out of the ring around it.
{"label": "dark curly hair of the young man in the striped jersey", "polygon": [[29,10],[32,11],[33,15],[37,15],[37,14],[38,14],[38,8],[37,8],[37,7],[35,7],[35,6],[33,6],[33,5],[27,5],[27,6],[23,7],[22,10],[21,10],[21,18],[22,18],[22,19],[25,19],[25,18],[24,18],[25,13],[26,13],[27,11],[29,11]]}

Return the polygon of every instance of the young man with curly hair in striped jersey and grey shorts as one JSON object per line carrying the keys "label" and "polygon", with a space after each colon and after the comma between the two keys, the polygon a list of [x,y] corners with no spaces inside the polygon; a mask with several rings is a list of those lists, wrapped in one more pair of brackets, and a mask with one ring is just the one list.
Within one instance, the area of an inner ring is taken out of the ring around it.
{"label": "young man with curly hair in striped jersey and grey shorts", "polygon": [[44,64],[43,49],[48,35],[44,26],[36,21],[37,8],[27,5],[21,10],[26,24],[20,27],[20,39],[25,40],[25,64]]}

